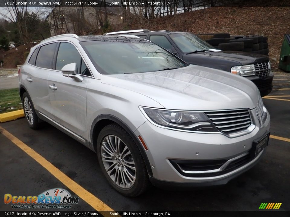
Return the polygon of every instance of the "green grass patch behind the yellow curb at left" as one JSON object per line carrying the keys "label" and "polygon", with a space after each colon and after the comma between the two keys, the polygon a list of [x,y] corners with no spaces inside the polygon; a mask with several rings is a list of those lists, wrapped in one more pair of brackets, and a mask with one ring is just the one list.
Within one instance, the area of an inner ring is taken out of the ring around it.
{"label": "green grass patch behind the yellow curb at left", "polygon": [[0,90],[0,114],[22,109],[18,88]]}

